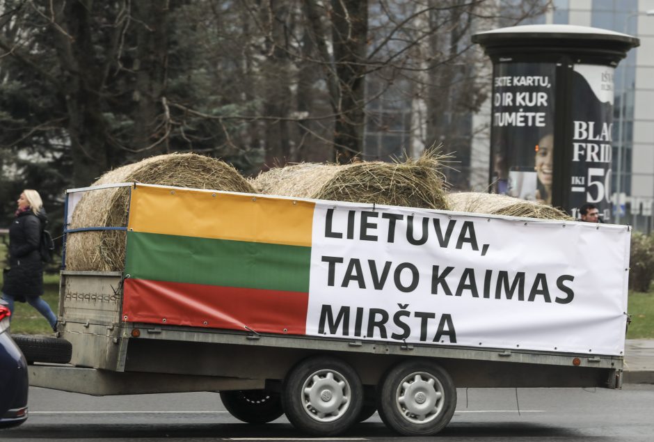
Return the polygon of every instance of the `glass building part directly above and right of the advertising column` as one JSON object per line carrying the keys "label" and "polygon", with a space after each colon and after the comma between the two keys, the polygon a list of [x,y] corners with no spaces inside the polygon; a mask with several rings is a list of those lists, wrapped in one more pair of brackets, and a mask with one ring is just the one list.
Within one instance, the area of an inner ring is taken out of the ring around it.
{"label": "glass building part directly above and right of the advertising column", "polygon": [[609,29],[634,35],[614,77],[612,195],[614,222],[650,232],[654,225],[654,1],[555,0],[546,22]]}

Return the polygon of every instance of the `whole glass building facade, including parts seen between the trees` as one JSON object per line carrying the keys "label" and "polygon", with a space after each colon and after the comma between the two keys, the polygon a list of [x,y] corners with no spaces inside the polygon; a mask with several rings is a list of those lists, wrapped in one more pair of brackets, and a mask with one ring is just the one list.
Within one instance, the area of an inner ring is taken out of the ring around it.
{"label": "whole glass building facade, including parts seen between the trees", "polygon": [[[497,2],[501,8],[508,9],[518,8],[520,3],[520,0]],[[612,220],[631,224],[637,230],[651,231],[654,228],[654,106],[651,106],[654,102],[654,33],[648,29],[654,29],[654,0],[554,0],[552,6],[547,13],[520,24],[592,26],[640,39],[641,46],[628,52],[617,66],[614,77]],[[515,22],[503,22],[500,18],[492,25],[479,23],[470,33],[513,25]],[[481,81],[490,82],[490,60],[487,61],[486,67],[462,66],[461,77],[476,75]],[[471,69],[476,71],[471,72]],[[414,90],[410,82],[397,81],[381,91],[381,84],[376,84],[372,77],[367,79],[366,88],[368,97],[378,96],[367,106],[365,159],[415,157],[431,143],[442,142],[446,152],[455,152],[453,168],[445,171],[452,189],[488,190],[490,102],[477,112],[461,106],[445,106],[438,114],[440,126],[436,125],[432,134],[420,134],[417,129],[424,126],[429,116],[420,115],[426,106],[420,103],[424,100],[416,99],[420,91]],[[451,93],[456,95],[465,90],[455,88]],[[433,120],[429,124],[433,125]],[[446,134],[447,139],[438,134]]]}

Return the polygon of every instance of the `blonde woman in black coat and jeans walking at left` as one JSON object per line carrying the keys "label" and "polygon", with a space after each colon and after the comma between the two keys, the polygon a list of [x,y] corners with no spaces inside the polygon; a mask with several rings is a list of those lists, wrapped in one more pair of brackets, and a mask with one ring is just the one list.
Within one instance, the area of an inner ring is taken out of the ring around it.
{"label": "blonde woman in black coat and jeans walking at left", "polygon": [[57,317],[43,294],[43,262],[40,253],[41,232],[47,216],[38,192],[26,189],[17,200],[16,217],[9,227],[9,265],[4,275],[2,298],[13,312],[14,301],[27,301],[47,319],[56,331]]}

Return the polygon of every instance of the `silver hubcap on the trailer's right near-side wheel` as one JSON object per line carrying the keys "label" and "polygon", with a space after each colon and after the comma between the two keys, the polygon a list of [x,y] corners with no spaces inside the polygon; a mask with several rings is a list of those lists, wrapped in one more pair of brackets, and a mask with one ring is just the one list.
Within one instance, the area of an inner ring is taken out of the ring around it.
{"label": "silver hubcap on the trailer's right near-side wheel", "polygon": [[440,381],[426,372],[411,373],[400,382],[395,405],[410,423],[424,424],[436,419],[444,402]]}

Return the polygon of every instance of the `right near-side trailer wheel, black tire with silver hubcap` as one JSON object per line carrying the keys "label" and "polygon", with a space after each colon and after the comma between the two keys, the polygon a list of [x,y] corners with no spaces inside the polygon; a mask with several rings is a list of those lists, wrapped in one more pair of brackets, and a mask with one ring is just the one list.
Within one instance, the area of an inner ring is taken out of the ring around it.
{"label": "right near-side trailer wheel, black tire with silver hubcap", "polygon": [[449,374],[431,361],[406,361],[384,377],[377,410],[386,426],[405,436],[433,436],[449,423],[456,388]]}

